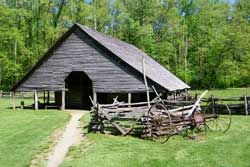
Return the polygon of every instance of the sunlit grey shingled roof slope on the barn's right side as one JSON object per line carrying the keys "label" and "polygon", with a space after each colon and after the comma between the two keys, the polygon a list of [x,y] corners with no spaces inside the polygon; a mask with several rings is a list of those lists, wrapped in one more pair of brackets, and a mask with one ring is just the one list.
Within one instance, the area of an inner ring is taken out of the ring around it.
{"label": "sunlit grey shingled roof slope on the barn's right side", "polygon": [[95,41],[100,43],[110,52],[118,56],[124,62],[143,74],[142,61],[144,57],[144,67],[146,76],[169,91],[189,89],[186,83],[177,78],[174,74],[161,66],[146,53],[135,47],[116,38],[112,38],[103,33],[97,32],[91,28],[76,24],[81,30],[87,33]]}

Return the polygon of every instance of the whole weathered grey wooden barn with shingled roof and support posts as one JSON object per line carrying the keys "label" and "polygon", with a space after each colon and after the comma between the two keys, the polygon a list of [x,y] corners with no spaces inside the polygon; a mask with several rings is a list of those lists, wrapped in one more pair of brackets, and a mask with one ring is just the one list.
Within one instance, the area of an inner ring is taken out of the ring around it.
{"label": "whole weathered grey wooden barn with shingled roof and support posts", "polygon": [[65,109],[112,103],[117,96],[119,101],[146,101],[146,91],[153,98],[152,87],[163,94],[190,88],[135,46],[75,24],[12,91],[34,92],[36,109],[37,92],[46,98],[54,92],[54,105]]}

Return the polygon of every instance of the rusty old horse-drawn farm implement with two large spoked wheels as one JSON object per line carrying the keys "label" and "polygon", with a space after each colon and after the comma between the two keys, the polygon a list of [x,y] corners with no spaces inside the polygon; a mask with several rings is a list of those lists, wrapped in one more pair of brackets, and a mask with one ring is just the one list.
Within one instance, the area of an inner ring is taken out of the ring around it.
{"label": "rusty old horse-drawn farm implement with two large spoked wheels", "polygon": [[145,119],[146,129],[144,137],[153,140],[167,141],[170,136],[179,134],[186,137],[193,137],[188,134],[189,130],[198,132],[220,131],[225,133],[231,125],[231,112],[226,104],[227,111],[219,115],[207,104],[201,109],[201,99],[207,93],[205,91],[193,105],[171,109],[162,102],[150,107]]}

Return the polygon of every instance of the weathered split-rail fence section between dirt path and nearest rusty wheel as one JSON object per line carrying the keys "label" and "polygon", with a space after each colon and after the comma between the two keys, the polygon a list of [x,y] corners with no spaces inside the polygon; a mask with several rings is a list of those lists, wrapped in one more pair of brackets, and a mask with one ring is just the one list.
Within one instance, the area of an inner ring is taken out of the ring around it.
{"label": "weathered split-rail fence section between dirt path and nearest rusty wheel", "polygon": [[106,134],[138,135],[143,129],[140,120],[147,111],[148,102],[98,104],[92,108],[89,130]]}

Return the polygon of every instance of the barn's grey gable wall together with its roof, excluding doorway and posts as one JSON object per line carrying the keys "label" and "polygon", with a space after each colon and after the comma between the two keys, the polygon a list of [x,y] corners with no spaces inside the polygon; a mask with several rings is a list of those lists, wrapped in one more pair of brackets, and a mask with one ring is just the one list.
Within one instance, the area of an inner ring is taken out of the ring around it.
{"label": "barn's grey gable wall together with its roof, excluding doorway and posts", "polygon": [[168,92],[190,88],[133,45],[75,24],[12,91],[64,90],[67,76],[82,71],[95,92],[145,92],[143,58],[150,89],[155,86]]}

